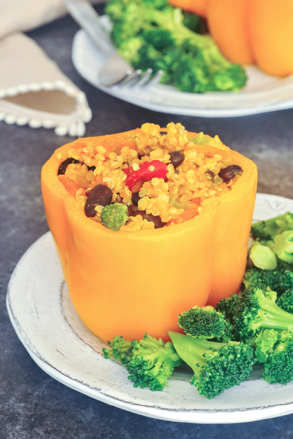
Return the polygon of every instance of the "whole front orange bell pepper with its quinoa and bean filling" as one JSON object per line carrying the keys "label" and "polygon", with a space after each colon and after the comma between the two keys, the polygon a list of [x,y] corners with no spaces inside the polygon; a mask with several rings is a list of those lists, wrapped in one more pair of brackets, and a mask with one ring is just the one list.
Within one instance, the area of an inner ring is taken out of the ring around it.
{"label": "whole front orange bell pepper with its quinoa and bean filling", "polygon": [[256,182],[251,160],[181,124],[57,149],[42,194],[85,325],[103,340],[167,340],[179,313],[237,292]]}

